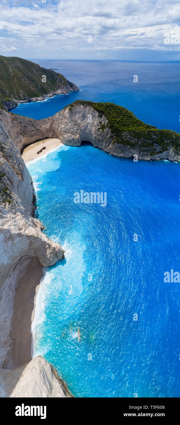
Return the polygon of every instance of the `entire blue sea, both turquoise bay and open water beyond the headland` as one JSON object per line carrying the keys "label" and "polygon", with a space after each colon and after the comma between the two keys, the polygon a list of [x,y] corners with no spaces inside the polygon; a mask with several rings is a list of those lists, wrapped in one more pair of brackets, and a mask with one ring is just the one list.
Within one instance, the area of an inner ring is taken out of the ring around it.
{"label": "entire blue sea, both turquoise bay and open water beyond the headland", "polygon": [[[16,113],[40,119],[89,99],[179,132],[179,63],[39,64],[59,67],[82,91]],[[164,272],[180,272],[180,164],[119,159],[84,143],[27,165],[37,218],[65,249],[37,295],[34,356],[76,397],[180,397],[180,283],[164,283]],[[107,205],[75,203],[81,190],[107,193]]]}

